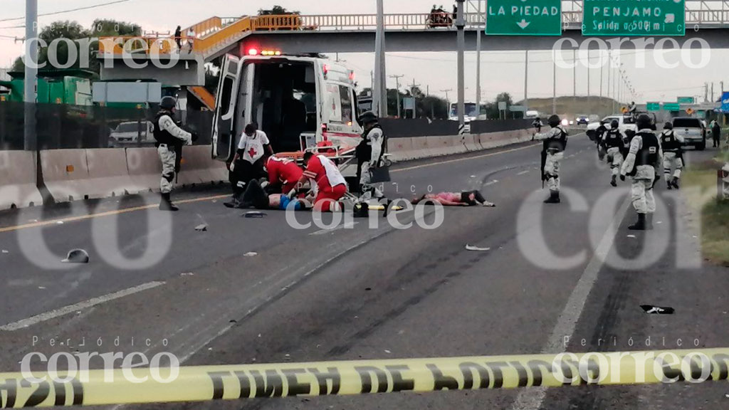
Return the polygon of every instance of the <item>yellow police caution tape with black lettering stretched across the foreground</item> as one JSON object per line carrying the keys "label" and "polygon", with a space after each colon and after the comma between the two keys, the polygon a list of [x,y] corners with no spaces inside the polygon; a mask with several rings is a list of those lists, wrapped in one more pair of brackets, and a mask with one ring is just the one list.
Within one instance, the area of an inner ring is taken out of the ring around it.
{"label": "yellow police caution tape with black lettering stretched across the foreground", "polygon": [[125,368],[0,374],[0,407],[726,380],[729,349]]}

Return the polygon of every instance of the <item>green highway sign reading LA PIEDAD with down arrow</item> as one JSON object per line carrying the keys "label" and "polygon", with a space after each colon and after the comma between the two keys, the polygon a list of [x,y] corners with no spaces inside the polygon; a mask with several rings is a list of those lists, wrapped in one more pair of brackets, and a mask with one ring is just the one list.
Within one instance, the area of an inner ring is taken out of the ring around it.
{"label": "green highway sign reading LA PIEDAD with down arrow", "polygon": [[486,34],[561,36],[561,0],[488,0]]}

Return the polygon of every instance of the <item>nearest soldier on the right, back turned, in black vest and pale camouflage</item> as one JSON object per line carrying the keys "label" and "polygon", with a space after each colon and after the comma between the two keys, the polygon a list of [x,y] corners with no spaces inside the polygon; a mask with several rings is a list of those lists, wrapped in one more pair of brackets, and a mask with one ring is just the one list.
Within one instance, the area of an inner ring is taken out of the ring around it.
{"label": "nearest soldier on the right, back turned, in black vest and pale camouflage", "polygon": [[655,212],[653,187],[660,178],[658,167],[663,158],[663,152],[660,150],[658,137],[650,129],[650,117],[641,114],[636,123],[638,132],[631,139],[631,149],[628,157],[625,158],[623,169],[620,171],[620,180],[625,181],[626,175],[633,177],[631,197],[633,207],[638,212],[638,221],[628,229],[645,231],[653,228],[652,215]]}

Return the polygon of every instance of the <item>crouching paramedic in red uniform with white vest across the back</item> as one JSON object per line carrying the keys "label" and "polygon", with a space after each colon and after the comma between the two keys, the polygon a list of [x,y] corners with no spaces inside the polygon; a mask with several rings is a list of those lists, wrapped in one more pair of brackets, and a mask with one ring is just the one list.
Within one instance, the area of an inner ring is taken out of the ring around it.
{"label": "crouching paramedic in red uniform with white vest across the back", "polygon": [[335,163],[324,155],[306,152],[304,166],[306,169],[297,186],[303,186],[307,179],[316,181],[319,191],[314,199],[314,210],[320,212],[343,210],[343,204],[339,200],[347,193],[347,183]]}

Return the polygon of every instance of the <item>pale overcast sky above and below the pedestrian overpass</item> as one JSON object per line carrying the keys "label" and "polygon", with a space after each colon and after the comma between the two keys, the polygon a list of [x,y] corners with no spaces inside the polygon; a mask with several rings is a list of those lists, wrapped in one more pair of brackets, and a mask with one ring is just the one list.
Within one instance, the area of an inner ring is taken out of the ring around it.
{"label": "pale overcast sky above and below the pedestrian overpass", "polygon": [[[0,0],[0,68],[9,67],[17,56],[23,54],[23,43],[9,37],[23,37],[24,20],[12,20],[25,15],[25,0]],[[111,0],[38,0],[39,14],[58,12],[78,7],[88,7],[107,3]],[[384,0],[386,13],[429,12],[433,0]],[[446,9],[451,2],[440,1]],[[254,15],[258,9],[270,9],[274,4],[295,9],[302,14],[373,14],[375,0],[128,0],[94,9],[79,10],[39,18],[41,28],[55,20],[75,20],[90,27],[96,18],[113,18],[139,24],[145,31],[174,31],[177,25],[190,26],[214,15],[235,17]],[[569,53],[572,54],[572,53]],[[690,53],[693,61],[700,60],[698,52]],[[697,96],[703,100],[704,83],[714,83],[714,98],[720,96],[720,81],[729,90],[729,50],[711,50],[709,63],[701,69],[692,69],[683,64],[667,69],[658,66],[646,53],[646,63],[639,68],[634,51],[625,51],[621,60],[625,65],[628,78],[636,90],[642,94],[636,101],[675,101],[677,96]],[[330,57],[335,58],[334,55]],[[669,53],[668,61],[677,61],[679,52]],[[338,55],[356,72],[361,88],[370,86],[370,71],[374,67],[374,55],[368,53],[348,53]],[[511,93],[516,101],[524,96],[524,51],[483,53],[481,57],[482,101],[493,100],[501,92]],[[565,56],[565,58],[569,58]],[[431,94],[456,99],[456,53],[387,53],[387,74],[402,74],[401,88],[413,81]],[[476,93],[476,55],[466,53],[466,99],[475,101]],[[553,63],[550,51],[529,52],[529,98],[548,98],[553,95]],[[607,95],[607,66],[590,69],[589,91],[591,96]],[[602,81],[601,81],[602,71]],[[588,69],[578,66],[574,75],[572,69],[557,69],[558,96],[588,95]],[[614,77],[614,76],[613,76]],[[612,81],[612,80],[611,80]],[[576,89],[574,85],[576,83]],[[390,79],[389,88],[395,87]],[[711,85],[709,85],[709,94]],[[612,94],[611,94],[612,95]]]}

